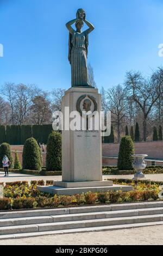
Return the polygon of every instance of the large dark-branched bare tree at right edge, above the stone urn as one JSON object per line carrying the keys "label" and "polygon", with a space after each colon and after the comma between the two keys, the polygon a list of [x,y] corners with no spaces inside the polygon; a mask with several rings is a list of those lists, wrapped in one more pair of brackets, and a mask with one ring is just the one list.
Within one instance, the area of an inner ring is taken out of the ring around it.
{"label": "large dark-branched bare tree at right edge, above the stone urn", "polygon": [[143,141],[147,140],[147,118],[153,106],[162,95],[163,70],[159,68],[145,79],[140,72],[127,72],[126,91],[128,96],[139,105],[143,113]]}

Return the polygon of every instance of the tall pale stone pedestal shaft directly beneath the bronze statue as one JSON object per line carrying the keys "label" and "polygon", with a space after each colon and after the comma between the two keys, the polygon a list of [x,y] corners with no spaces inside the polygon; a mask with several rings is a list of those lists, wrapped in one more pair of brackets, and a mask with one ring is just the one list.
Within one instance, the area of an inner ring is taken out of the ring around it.
{"label": "tall pale stone pedestal shaft directly beneath the bronze statue", "polygon": [[[93,96],[97,101],[97,111],[101,111],[101,95],[94,88],[72,87],[62,97],[62,113],[67,117],[65,107],[69,107],[70,113],[77,111],[77,101],[80,96],[84,99],[79,102],[83,109],[83,102]],[[91,101],[91,111],[94,103]],[[82,117],[78,113],[80,121]],[[72,119],[70,118],[70,121]],[[84,123],[84,120],[83,120]],[[86,122],[85,122],[86,123]],[[64,122],[65,124],[65,122]],[[66,127],[64,127],[66,128]],[[81,127],[79,127],[80,130]],[[62,181],[102,181],[102,138],[98,131],[62,131]]]}

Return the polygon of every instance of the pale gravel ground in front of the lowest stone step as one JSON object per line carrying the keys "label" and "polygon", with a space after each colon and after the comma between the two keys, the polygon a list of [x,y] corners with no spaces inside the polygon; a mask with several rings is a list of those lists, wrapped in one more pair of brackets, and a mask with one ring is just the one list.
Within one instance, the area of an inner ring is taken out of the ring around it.
{"label": "pale gravel ground in front of the lowest stone step", "polygon": [[162,245],[163,225],[0,240],[0,245]]}

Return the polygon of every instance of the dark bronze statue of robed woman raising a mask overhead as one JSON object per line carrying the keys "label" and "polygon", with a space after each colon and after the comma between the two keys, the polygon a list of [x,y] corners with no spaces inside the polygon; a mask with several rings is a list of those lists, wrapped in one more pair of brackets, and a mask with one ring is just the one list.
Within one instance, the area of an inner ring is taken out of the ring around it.
{"label": "dark bronze statue of robed woman raising a mask overhead", "polygon": [[[84,22],[89,27],[82,32]],[[75,23],[76,31],[71,27]],[[77,10],[77,18],[66,23],[70,32],[68,60],[71,64],[71,84],[74,86],[89,86],[87,78],[87,48],[89,45],[88,34],[94,29],[93,25],[85,19],[85,11]]]}

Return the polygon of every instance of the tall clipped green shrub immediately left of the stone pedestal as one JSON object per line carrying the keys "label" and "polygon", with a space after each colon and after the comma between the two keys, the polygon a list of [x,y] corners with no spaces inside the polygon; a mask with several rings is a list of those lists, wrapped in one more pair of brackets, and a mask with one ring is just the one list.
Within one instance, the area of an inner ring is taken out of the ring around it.
{"label": "tall clipped green shrub immediately left of the stone pedestal", "polygon": [[61,134],[53,131],[47,142],[46,170],[61,170],[61,162]]}

